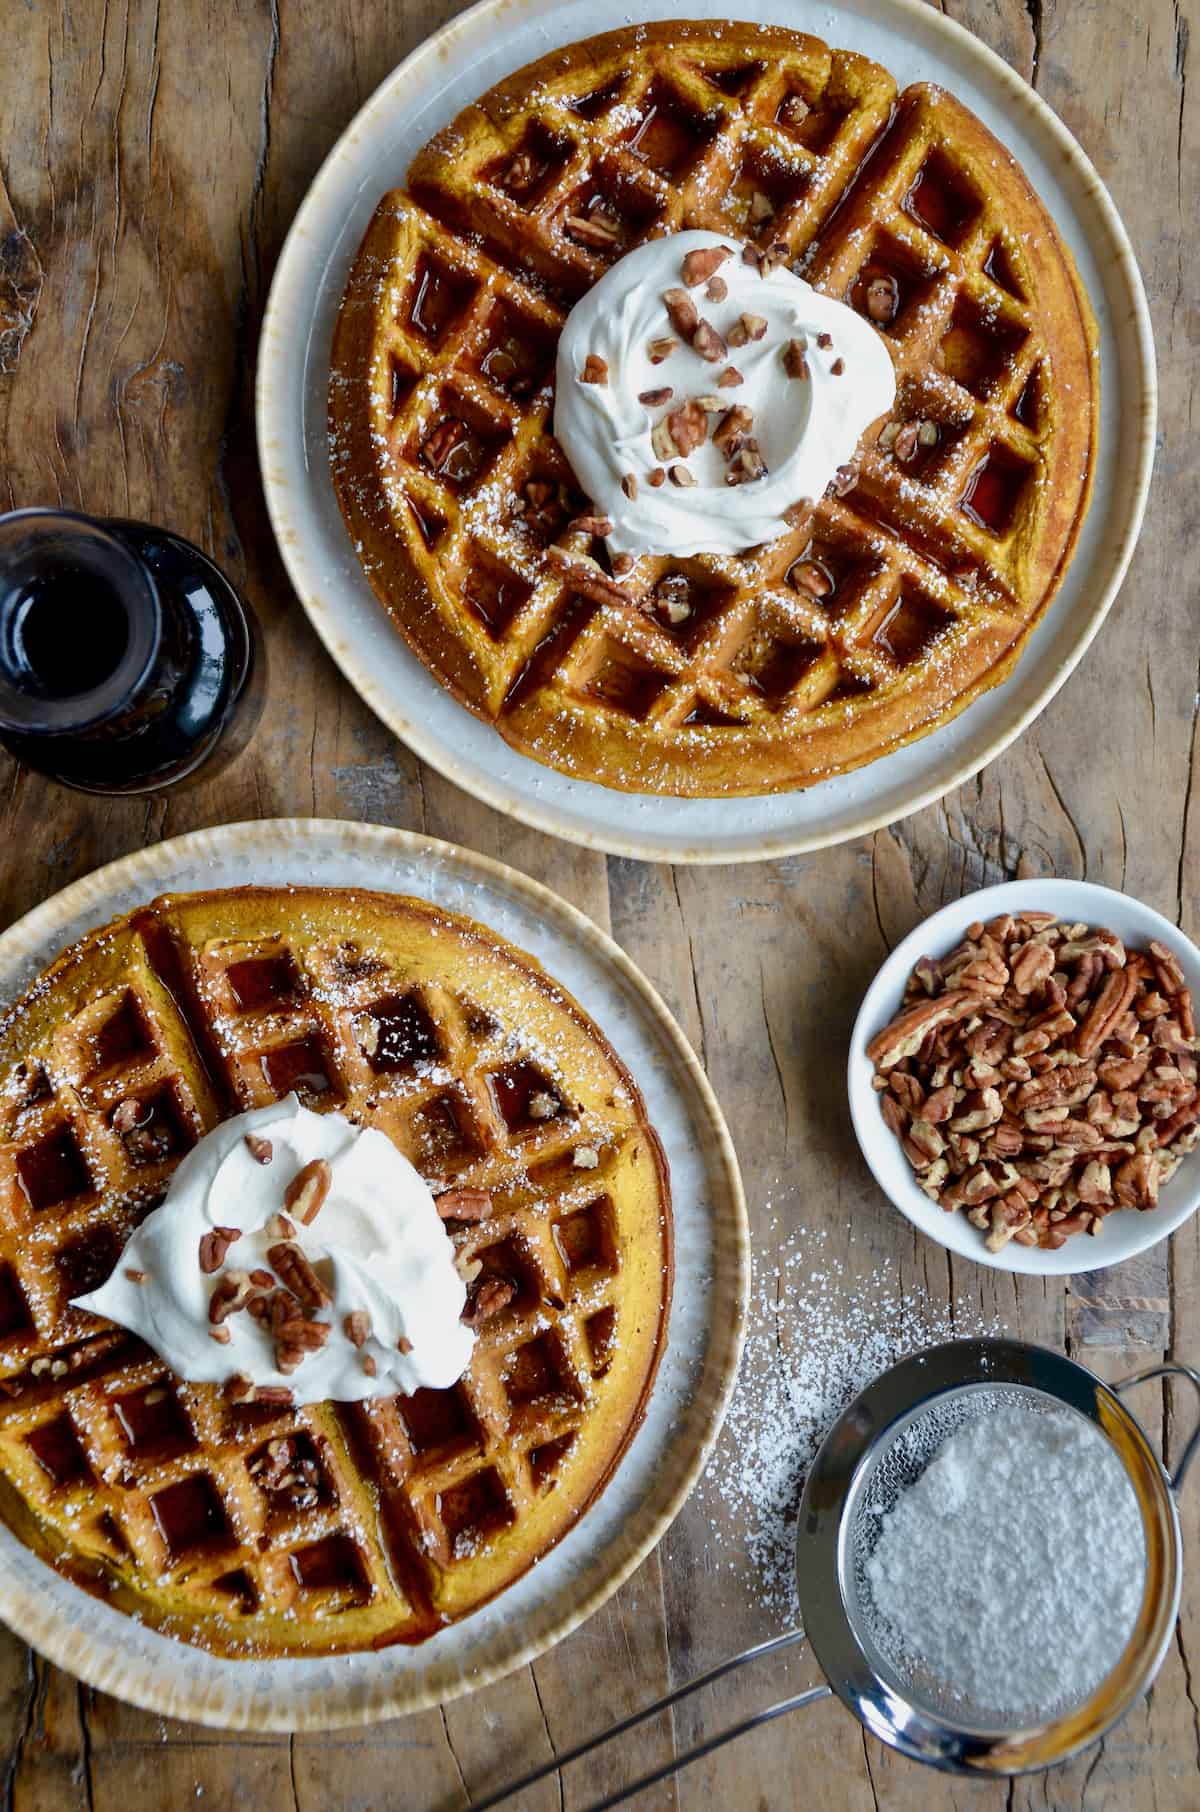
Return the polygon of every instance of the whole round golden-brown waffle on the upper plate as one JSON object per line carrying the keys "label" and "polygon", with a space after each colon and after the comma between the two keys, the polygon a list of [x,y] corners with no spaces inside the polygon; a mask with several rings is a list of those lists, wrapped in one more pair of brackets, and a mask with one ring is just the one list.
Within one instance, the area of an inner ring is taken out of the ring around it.
{"label": "whole round golden-brown waffle on the upper plate", "polygon": [[[547,547],[607,556],[569,529],[556,335],[682,228],[779,246],[865,313],[881,279],[895,410],[781,540],[580,589]],[[334,484],[401,634],[513,748],[636,792],[808,786],[1010,672],[1088,507],[1095,346],[1050,216],[950,94],[790,31],[625,29],[491,89],[381,201],[334,335]]]}

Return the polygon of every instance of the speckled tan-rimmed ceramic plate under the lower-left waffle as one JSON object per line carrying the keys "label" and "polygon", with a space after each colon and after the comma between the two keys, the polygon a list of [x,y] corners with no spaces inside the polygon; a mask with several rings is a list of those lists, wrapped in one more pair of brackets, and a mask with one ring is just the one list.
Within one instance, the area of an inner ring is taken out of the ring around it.
{"label": "speckled tan-rimmed ceramic plate under the lower-left waffle", "polygon": [[482,855],[372,824],[268,819],[127,855],[0,937],[0,1002],[73,939],[163,892],[261,884],[415,893],[535,955],[636,1078],[674,1200],[674,1301],[645,1421],[578,1526],[495,1604],[419,1647],[236,1662],[145,1629],[0,1526],[0,1616],[60,1667],[149,1711],[243,1730],[317,1730],[421,1711],[498,1680],[591,1616],[678,1515],[721,1426],[741,1352],[749,1230],[738,1161],[683,1033],[629,959],[566,901]]}

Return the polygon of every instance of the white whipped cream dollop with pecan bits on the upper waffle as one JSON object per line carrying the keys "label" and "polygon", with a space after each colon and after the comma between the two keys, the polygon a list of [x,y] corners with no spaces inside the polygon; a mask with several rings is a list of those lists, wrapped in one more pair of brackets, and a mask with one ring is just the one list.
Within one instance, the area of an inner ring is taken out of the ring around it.
{"label": "white whipped cream dollop with pecan bits on the upper waffle", "polygon": [[[689,284],[689,254],[721,248],[716,283]],[[669,290],[685,290],[723,352],[696,350],[716,344],[703,330],[696,341],[680,330],[678,304],[673,323]],[[669,352],[667,341],[676,342]],[[645,400],[663,390],[669,399]],[[689,399],[705,399],[705,440],[671,453],[654,429]],[[892,357],[870,321],[785,265],[761,275],[738,239],[680,232],[618,259],[571,310],[558,341],[555,437],[596,515],[611,520],[613,553],[736,554],[783,535],[787,511],[821,496],[894,399]],[[747,415],[721,433],[734,408]],[[747,439],[752,453],[734,471]],[[760,462],[761,477],[745,477]]]}

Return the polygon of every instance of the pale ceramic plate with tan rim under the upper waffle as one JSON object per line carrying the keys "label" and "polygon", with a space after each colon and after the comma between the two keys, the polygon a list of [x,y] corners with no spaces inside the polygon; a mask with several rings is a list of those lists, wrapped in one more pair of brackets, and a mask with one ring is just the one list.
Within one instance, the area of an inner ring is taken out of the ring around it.
{"label": "pale ceramic plate with tan rim under the upper waffle", "polygon": [[682,0],[691,18],[812,31],[863,51],[901,83],[941,82],[1024,165],[1071,246],[1100,324],[1100,451],[1091,511],[1066,582],[1015,674],[953,723],[872,766],[767,799],[620,794],[517,754],[408,651],[372,594],[343,525],[324,431],[330,335],[375,203],[460,107],[556,45],[662,18],[665,0],[480,0],[401,63],[326,158],[295,216],[270,292],[257,435],[270,516],[292,583],[346,678],[410,748],[459,786],[538,830],[618,855],[756,861],[894,823],[997,756],[1042,710],[1097,632],[1137,540],[1155,440],[1155,359],[1142,281],[1091,163],[1013,71],[921,0]]}

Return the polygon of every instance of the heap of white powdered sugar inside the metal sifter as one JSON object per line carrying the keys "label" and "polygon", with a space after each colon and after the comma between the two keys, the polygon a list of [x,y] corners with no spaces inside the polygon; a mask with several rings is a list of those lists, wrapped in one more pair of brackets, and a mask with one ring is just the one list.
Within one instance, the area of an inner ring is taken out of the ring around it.
{"label": "heap of white powdered sugar inside the metal sifter", "polygon": [[901,1678],[915,1662],[966,1707],[1040,1723],[1120,1660],[1146,1584],[1142,1515],[1082,1415],[1008,1402],[899,1493],[865,1575]]}

